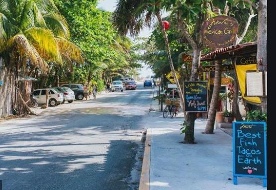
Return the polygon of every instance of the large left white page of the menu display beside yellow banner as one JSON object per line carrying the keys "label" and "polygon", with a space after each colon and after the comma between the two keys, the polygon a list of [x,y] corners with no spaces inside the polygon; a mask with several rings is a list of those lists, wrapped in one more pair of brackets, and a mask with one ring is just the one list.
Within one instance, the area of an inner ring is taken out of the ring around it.
{"label": "large left white page of the menu display beside yellow banner", "polygon": [[263,73],[246,72],[246,95],[263,96]]}

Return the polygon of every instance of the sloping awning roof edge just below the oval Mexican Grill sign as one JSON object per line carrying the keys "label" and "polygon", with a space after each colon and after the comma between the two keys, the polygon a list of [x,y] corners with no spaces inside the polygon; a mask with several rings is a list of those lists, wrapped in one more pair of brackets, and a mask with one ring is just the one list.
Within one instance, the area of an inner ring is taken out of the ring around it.
{"label": "sloping awning roof edge just below the oval Mexican Grill sign", "polygon": [[257,53],[257,42],[239,44],[220,48],[201,56],[201,61],[214,61],[235,58],[236,56],[248,56]]}

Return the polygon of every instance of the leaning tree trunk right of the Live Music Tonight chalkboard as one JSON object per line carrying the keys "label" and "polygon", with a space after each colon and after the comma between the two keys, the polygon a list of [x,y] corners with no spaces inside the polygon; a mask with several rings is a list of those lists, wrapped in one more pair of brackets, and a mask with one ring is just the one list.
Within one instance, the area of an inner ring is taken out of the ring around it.
{"label": "leaning tree trunk right of the Live Music Tonight chalkboard", "polygon": [[221,60],[215,61],[214,89],[213,89],[213,95],[210,103],[210,109],[208,112],[208,120],[204,131],[204,133],[206,134],[214,133],[214,124],[215,124],[217,104],[218,104],[219,91],[220,91],[220,85],[221,85],[221,72],[222,72],[221,64],[222,64]]}

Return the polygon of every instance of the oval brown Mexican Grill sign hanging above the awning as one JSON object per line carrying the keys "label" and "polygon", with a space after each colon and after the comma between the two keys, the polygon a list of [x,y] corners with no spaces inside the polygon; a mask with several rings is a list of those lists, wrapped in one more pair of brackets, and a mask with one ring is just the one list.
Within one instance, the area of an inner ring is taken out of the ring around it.
{"label": "oval brown Mexican Grill sign hanging above the awning", "polygon": [[201,27],[203,41],[213,48],[227,47],[236,41],[238,21],[230,16],[210,18]]}

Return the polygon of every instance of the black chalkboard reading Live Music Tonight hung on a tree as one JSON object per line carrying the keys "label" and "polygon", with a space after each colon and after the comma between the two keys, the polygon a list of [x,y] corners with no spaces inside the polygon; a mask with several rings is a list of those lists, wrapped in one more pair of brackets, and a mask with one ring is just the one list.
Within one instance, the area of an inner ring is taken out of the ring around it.
{"label": "black chalkboard reading Live Music Tonight hung on a tree", "polygon": [[186,112],[207,112],[207,82],[185,81],[184,101]]}

